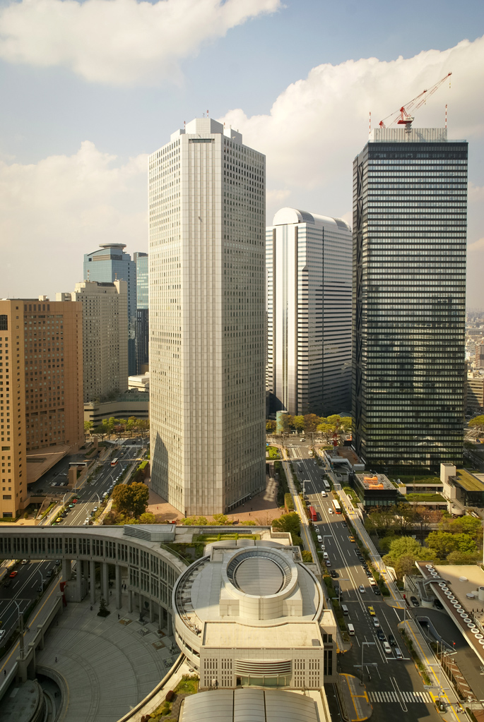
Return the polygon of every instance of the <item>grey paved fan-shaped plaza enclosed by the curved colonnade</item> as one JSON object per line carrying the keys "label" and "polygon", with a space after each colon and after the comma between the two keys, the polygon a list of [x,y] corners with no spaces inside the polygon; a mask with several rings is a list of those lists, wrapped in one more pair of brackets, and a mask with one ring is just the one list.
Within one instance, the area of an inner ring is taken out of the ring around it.
{"label": "grey paved fan-shaped plaza enclosed by the curved colonnade", "polygon": [[37,654],[39,665],[66,681],[64,722],[115,722],[156,687],[178,654],[170,652],[173,638],[158,634],[157,622],[142,625],[139,612],[113,603],[108,617],[98,617],[98,609],[91,611],[88,599],[68,604]]}

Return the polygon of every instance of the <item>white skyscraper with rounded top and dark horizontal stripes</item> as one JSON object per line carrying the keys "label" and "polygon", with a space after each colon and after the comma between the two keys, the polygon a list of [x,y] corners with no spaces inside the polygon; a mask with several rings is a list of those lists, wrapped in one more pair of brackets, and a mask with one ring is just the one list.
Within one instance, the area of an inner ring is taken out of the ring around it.
{"label": "white skyscraper with rounded top and dark horizontal stripes", "polygon": [[351,407],[352,235],[339,218],[282,208],[266,230],[272,411]]}

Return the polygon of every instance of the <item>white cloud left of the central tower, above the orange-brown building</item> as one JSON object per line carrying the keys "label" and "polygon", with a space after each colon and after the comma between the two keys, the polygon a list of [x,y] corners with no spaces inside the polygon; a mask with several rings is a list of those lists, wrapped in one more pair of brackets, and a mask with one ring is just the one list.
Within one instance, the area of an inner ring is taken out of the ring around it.
{"label": "white cloud left of the central tower, above the orange-brown building", "polygon": [[146,155],[120,165],[90,142],[37,165],[0,162],[0,297],[73,290],[100,243],[146,250],[146,187]]}

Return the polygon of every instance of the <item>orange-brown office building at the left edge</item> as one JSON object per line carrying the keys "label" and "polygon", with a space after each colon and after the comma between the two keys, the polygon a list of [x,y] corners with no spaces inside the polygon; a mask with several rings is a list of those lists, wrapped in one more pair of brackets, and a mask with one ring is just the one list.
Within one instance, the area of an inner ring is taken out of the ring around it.
{"label": "orange-brown office building at the left edge", "polygon": [[0,300],[0,516],[28,503],[27,484],[84,442],[82,305]]}

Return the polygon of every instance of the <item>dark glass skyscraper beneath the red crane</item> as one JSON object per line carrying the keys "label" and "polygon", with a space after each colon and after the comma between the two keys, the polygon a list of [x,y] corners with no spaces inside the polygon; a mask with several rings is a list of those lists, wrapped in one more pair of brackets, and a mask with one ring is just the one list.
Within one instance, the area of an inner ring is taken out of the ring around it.
{"label": "dark glass skyscraper beneath the red crane", "polygon": [[371,466],[462,463],[467,142],[376,129],[353,164],[353,440]]}

